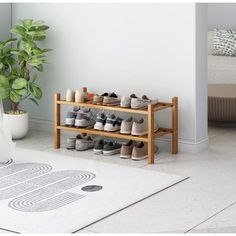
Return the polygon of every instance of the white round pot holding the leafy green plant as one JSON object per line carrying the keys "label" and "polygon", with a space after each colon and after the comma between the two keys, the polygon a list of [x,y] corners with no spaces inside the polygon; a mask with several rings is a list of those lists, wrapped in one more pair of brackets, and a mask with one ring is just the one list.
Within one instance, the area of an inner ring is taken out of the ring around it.
{"label": "white round pot holding the leafy green plant", "polygon": [[22,139],[29,130],[28,113],[19,115],[3,114],[3,125],[10,131],[12,139]]}

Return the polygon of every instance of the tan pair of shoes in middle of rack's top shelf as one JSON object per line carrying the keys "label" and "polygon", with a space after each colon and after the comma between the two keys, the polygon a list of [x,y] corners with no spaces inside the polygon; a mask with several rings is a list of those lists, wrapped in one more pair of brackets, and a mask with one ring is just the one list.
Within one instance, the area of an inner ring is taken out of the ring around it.
{"label": "tan pair of shoes in middle of rack's top shelf", "polygon": [[104,93],[102,95],[94,95],[93,97],[93,104],[96,105],[119,105],[120,99],[118,96],[113,93]]}

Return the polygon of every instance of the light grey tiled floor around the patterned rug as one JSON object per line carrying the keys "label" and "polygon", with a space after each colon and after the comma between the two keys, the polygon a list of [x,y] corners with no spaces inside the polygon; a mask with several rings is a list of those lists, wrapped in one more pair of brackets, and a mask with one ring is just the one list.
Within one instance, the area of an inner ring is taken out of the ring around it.
{"label": "light grey tiled floor around the patterned rug", "polygon": [[236,128],[209,127],[208,150],[177,156],[161,151],[154,165],[54,150],[52,138],[50,133],[31,131],[17,145],[191,177],[78,233],[236,233]]}

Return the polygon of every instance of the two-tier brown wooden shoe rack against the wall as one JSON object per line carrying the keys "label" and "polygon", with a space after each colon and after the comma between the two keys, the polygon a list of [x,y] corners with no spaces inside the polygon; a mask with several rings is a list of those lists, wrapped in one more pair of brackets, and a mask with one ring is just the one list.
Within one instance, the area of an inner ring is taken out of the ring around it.
{"label": "two-tier brown wooden shoe rack against the wall", "polygon": [[[91,128],[75,128],[67,127],[61,124],[61,105],[66,106],[80,106],[87,107],[91,109],[100,109],[100,110],[110,110],[117,112],[126,112],[133,114],[141,114],[148,116],[148,134],[144,136],[133,136],[121,134],[119,132],[106,132],[98,131]],[[154,131],[154,115],[156,112],[170,108],[172,109],[172,127],[171,128],[159,128],[158,131]],[[158,102],[156,105],[148,105],[146,109],[131,109],[131,108],[122,108],[119,106],[102,106],[94,105],[91,102],[87,103],[76,103],[76,102],[67,102],[61,100],[60,93],[55,94],[55,110],[54,110],[54,147],[60,148],[61,146],[61,130],[66,131],[75,131],[87,134],[93,134],[98,136],[105,136],[118,139],[128,139],[143,141],[148,143],[148,164],[154,163],[154,140],[155,138],[161,137],[163,135],[172,134],[172,154],[178,153],[178,98],[173,97],[172,102]]]}

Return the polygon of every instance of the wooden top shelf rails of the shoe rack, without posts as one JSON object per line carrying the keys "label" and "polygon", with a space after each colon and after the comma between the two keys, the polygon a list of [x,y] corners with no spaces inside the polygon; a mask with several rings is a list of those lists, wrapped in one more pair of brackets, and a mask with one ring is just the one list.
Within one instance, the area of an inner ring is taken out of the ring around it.
{"label": "wooden top shelf rails of the shoe rack, without posts", "polygon": [[[148,115],[148,109],[132,109],[132,108],[123,108],[120,106],[104,106],[104,105],[95,105],[92,102],[86,103],[78,103],[78,102],[67,102],[65,100],[58,100],[57,104],[60,105],[68,105],[68,106],[80,106],[80,107],[88,107],[91,109],[100,109],[100,110],[113,110],[113,111],[120,111],[120,112],[129,112],[129,113],[136,113],[142,115]],[[172,107],[173,103],[170,102],[158,102],[156,105],[153,106],[153,111],[157,112],[169,107]]]}

